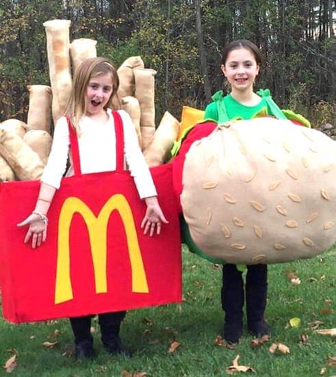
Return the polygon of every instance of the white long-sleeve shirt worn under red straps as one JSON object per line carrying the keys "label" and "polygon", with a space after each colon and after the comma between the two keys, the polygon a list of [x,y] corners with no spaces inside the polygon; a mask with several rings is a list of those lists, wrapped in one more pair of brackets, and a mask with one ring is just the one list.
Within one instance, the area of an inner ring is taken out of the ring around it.
{"label": "white long-sleeve shirt worn under red straps", "polygon": [[[124,153],[129,170],[141,198],[157,195],[151,172],[138,144],[138,136],[129,114],[118,111],[124,129]],[[112,111],[107,109],[109,120],[100,123],[83,116],[79,121],[78,138],[81,173],[98,173],[116,170],[116,134]],[[60,188],[66,170],[70,138],[66,117],[58,119],[53,134],[53,145],[41,181]]]}

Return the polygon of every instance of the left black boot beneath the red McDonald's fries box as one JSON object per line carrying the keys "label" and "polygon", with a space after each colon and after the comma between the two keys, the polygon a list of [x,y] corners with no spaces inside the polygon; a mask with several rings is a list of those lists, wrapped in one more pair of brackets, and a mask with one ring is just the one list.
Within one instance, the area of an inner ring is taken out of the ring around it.
{"label": "left black boot beneath the red McDonald's fries box", "polygon": [[69,318],[73,335],[75,336],[76,358],[94,358],[96,353],[92,347],[93,338],[90,333],[91,315],[86,317]]}

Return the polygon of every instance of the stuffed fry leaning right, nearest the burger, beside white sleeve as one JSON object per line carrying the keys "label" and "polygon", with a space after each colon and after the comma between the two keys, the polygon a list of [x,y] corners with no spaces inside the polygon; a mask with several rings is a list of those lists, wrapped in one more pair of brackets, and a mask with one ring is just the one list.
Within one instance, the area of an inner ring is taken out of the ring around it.
{"label": "stuffed fry leaning right, nearest the burger, beside white sleeve", "polygon": [[172,145],[179,134],[179,127],[179,121],[166,111],[155,131],[153,140],[144,151],[148,167],[156,167],[169,160]]}

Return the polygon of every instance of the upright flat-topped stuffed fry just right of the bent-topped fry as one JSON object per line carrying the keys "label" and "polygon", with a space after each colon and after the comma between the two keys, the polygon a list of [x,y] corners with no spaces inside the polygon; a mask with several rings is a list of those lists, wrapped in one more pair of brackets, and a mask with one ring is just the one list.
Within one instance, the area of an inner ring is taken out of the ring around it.
{"label": "upright flat-topped stuffed fry just right of the bent-topped fry", "polygon": [[145,150],[155,132],[155,80],[154,69],[133,69],[135,77],[135,97],[140,104],[140,129],[142,150]]}

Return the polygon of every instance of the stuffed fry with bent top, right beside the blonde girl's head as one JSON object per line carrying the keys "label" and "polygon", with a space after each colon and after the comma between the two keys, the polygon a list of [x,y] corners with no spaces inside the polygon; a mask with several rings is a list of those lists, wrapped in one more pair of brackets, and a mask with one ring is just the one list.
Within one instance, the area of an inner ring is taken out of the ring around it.
{"label": "stuffed fry with bent top, right beside the blonde girl's head", "polygon": [[133,69],[144,68],[144,62],[140,56],[131,56],[127,58],[118,68],[119,77],[119,98],[132,96],[134,94],[134,73]]}

